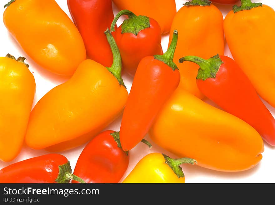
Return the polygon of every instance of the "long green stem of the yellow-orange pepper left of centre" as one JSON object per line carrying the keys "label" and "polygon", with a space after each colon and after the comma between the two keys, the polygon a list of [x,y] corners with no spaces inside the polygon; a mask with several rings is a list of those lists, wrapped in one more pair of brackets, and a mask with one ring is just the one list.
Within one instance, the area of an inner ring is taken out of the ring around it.
{"label": "long green stem of the yellow-orange pepper left of centre", "polygon": [[118,80],[119,85],[122,85],[125,87],[123,79],[121,77],[122,61],[121,61],[121,56],[120,56],[118,46],[117,46],[115,39],[113,38],[109,28],[107,28],[107,30],[104,33],[107,37],[108,43],[109,43],[111,50],[113,52],[113,64],[111,67],[106,67],[106,68],[108,69],[108,71],[110,73],[113,74],[113,76],[115,76],[115,78]]}

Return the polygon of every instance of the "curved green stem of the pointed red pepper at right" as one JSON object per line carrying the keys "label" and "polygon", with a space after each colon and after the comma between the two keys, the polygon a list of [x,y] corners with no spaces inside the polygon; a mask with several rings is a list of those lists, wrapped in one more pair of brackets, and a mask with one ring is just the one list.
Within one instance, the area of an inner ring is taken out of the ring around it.
{"label": "curved green stem of the pointed red pepper at right", "polygon": [[197,79],[206,80],[208,78],[216,78],[216,74],[223,64],[219,54],[209,59],[203,59],[198,56],[185,56],[178,60],[179,63],[190,61],[200,66],[198,69]]}

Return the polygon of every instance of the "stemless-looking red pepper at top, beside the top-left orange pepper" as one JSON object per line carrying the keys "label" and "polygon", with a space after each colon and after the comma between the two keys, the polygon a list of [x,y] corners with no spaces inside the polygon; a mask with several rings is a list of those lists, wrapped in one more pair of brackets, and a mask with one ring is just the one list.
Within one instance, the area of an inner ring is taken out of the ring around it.
{"label": "stemless-looking red pepper at top, beside the top-left orange pepper", "polygon": [[114,14],[111,0],[67,0],[90,59],[110,67],[113,53],[104,31],[110,27]]}

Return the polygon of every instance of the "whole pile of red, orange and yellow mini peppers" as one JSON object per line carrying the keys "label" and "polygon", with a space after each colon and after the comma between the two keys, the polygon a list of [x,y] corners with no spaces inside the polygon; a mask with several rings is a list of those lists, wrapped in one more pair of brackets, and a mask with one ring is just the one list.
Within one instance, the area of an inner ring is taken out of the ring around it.
{"label": "whole pile of red, orange and yellow mini peppers", "polygon": [[[114,15],[111,0],[67,0],[73,21],[54,0],[8,2],[3,22],[25,56],[71,77],[32,109],[36,82],[26,58],[0,57],[0,160],[16,160],[23,144],[52,152],[2,168],[0,183],[185,183],[183,164],[255,167],[264,141],[275,146],[275,119],[260,99],[275,106],[275,11],[212,1],[177,11],[174,0],[113,0]],[[225,19],[218,4],[233,6]],[[120,130],[106,130],[119,116]],[[141,153],[125,176],[130,153],[150,141],[178,157]],[[85,143],[72,173],[58,152]]]}

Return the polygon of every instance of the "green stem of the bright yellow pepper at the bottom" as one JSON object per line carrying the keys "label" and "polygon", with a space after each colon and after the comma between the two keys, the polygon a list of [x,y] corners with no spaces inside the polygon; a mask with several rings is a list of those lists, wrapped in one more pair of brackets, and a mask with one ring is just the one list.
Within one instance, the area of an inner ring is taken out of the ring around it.
{"label": "green stem of the bright yellow pepper at the bottom", "polygon": [[184,157],[179,159],[172,159],[165,154],[162,155],[165,159],[165,163],[168,164],[168,166],[174,171],[178,178],[184,177],[183,169],[180,167],[181,164],[197,164],[197,161],[191,158]]}

